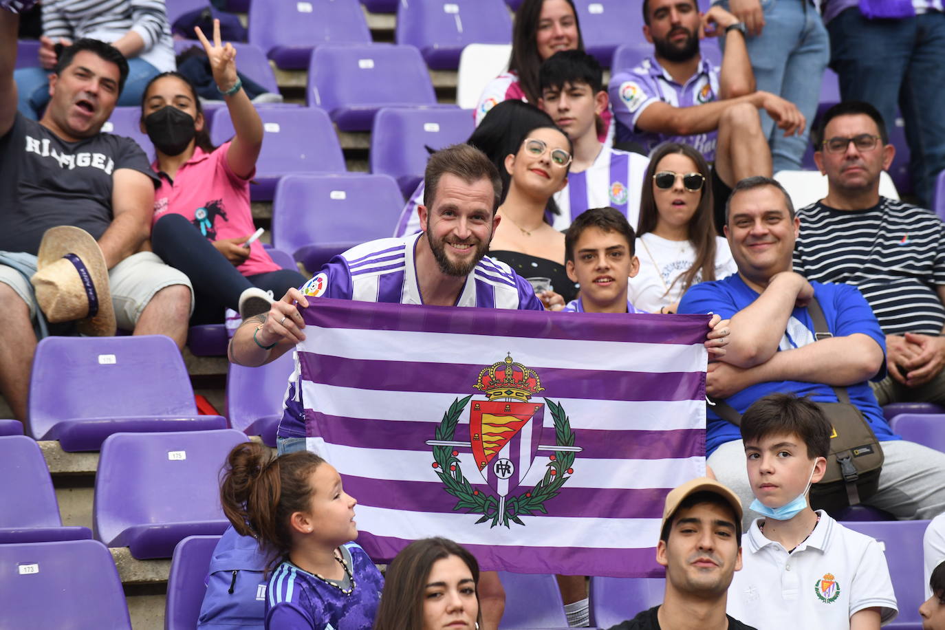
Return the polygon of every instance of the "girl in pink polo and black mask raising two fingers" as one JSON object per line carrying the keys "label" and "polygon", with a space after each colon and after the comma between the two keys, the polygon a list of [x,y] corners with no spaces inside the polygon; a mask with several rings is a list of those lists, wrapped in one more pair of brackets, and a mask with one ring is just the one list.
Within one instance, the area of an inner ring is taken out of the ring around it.
{"label": "girl in pink polo and black mask raising two fingers", "polygon": [[[263,123],[236,76],[236,51],[196,29],[217,89],[232,117],[235,136],[210,144],[194,86],[176,72],[154,77],[143,96],[141,121],[154,144],[151,167],[161,185],[155,192],[151,246],[163,261],[187,274],[194,285],[192,324],[223,321],[225,308],[243,318],[266,313],[271,295],[282,296],[304,279],[282,269],[256,240],[249,211],[249,179],[263,145]],[[271,292],[271,295],[268,293]]]}

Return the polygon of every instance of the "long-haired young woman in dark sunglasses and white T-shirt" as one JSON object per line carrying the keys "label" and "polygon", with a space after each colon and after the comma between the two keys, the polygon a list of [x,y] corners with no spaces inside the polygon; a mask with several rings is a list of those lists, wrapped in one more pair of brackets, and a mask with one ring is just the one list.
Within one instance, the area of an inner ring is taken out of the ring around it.
{"label": "long-haired young woman in dark sunglasses and white T-shirt", "polygon": [[710,177],[690,145],[667,143],[650,154],[635,247],[640,272],[627,294],[637,308],[676,313],[690,286],[735,273],[729,242],[715,235]]}

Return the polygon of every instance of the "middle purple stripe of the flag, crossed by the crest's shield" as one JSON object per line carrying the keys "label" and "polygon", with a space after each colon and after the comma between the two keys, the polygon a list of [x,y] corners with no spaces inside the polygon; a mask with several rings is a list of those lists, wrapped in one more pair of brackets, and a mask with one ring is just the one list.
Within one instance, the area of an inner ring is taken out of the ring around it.
{"label": "middle purple stripe of the flag, crossed by the crest's shield", "polygon": [[[445,405],[448,408],[449,405]],[[565,410],[567,412],[567,410]],[[434,439],[437,425],[414,420],[366,420],[359,417],[327,416],[305,410],[309,437],[322,437],[329,444],[362,449],[397,449],[398,451],[430,451],[426,440]],[[549,420],[550,421],[550,420]],[[460,424],[454,438],[469,439],[467,427]],[[462,432],[467,431],[464,435]],[[604,431],[572,429],[575,446],[583,451],[578,459],[674,459],[703,457],[706,454],[705,430],[675,429],[670,431]],[[555,429],[545,426],[541,445],[555,444]],[[547,455],[549,451],[539,451]]]}

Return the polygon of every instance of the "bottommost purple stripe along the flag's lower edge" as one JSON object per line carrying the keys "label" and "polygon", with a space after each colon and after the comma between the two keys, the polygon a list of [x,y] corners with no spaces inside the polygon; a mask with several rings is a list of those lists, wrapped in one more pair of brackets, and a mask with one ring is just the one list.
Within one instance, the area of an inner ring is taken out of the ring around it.
{"label": "bottommost purple stripe along the flag's lower edge", "polygon": [[[356,512],[356,508],[355,508]],[[516,525],[518,527],[518,525]],[[439,532],[450,536],[450,532]],[[433,535],[431,533],[431,535]],[[374,562],[390,562],[413,542],[390,536],[361,532],[356,541]],[[499,547],[469,545],[458,540],[479,561],[481,570],[515,570],[527,573],[574,574],[610,577],[663,577],[665,570],[656,562],[656,544],[643,549],[595,549],[588,547]]]}

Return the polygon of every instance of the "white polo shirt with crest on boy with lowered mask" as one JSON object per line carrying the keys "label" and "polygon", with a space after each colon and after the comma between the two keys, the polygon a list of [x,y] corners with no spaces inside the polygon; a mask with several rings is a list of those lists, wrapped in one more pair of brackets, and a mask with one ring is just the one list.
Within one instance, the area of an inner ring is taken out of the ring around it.
{"label": "white polo shirt with crest on boy with lowered mask", "polygon": [[881,622],[899,613],[885,553],[874,538],[847,529],[826,512],[793,553],[751,523],[742,539],[726,611],[765,630],[849,628],[851,616],[880,608]]}

